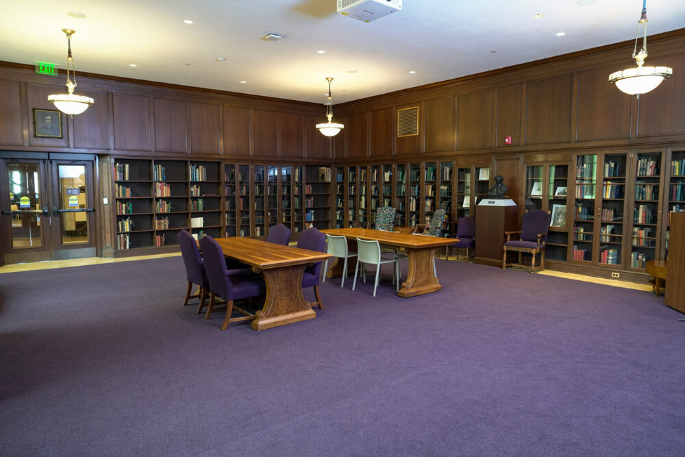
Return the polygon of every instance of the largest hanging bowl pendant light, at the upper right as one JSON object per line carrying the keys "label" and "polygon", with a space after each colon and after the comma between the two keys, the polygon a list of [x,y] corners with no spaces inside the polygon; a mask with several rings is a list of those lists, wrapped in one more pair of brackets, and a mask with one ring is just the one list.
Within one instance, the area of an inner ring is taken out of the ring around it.
{"label": "largest hanging bowl pendant light, at the upper right", "polygon": [[[640,27],[643,28],[643,46],[638,50],[638,39],[640,38]],[[616,87],[628,95],[646,94],[650,90],[656,89],[661,82],[673,75],[673,69],[669,66],[643,66],[647,58],[647,0],[643,0],[643,10],[638,29],[635,36],[635,47],[633,48],[633,58],[638,66],[632,69],[616,71],[609,75],[609,82],[616,84]]]}

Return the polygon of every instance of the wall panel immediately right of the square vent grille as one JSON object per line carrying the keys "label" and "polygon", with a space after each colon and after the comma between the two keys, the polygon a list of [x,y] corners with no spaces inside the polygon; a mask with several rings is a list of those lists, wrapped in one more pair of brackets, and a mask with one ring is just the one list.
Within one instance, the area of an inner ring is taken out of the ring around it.
{"label": "wall panel immediately right of the square vent grille", "polygon": [[452,151],[455,139],[454,97],[427,100],[423,103],[425,151]]}

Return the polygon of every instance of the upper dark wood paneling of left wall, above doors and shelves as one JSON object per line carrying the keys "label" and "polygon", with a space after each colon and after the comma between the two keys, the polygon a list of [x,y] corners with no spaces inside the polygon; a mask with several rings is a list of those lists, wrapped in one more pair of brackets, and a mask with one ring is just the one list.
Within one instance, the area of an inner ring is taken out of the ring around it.
{"label": "upper dark wood paneling of left wall, above doors and shelves", "polygon": [[0,64],[0,149],[240,160],[332,161],[323,105],[108,77],[79,77],[86,112],[62,114],[64,138],[34,138],[32,108],[55,109],[64,75]]}

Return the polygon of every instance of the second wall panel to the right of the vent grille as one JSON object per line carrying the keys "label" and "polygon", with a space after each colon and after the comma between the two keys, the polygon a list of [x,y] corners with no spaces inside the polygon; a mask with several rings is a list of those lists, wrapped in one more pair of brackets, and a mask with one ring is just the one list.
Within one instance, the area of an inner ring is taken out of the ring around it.
{"label": "second wall panel to the right of the vent grille", "polygon": [[460,95],[457,100],[457,149],[493,147],[493,90]]}

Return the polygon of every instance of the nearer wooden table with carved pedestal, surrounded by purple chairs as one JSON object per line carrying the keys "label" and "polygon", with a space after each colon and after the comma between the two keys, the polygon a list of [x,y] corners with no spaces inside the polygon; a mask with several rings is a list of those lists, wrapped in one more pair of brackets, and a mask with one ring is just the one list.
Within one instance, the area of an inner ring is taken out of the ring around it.
{"label": "nearer wooden table with carved pedestal, surrounded by purple chairs", "polygon": [[242,236],[214,239],[221,246],[224,256],[248,264],[252,271],[264,278],[266,300],[264,308],[256,312],[252,321],[254,330],[316,317],[312,304],[304,299],[302,276],[308,265],[322,262],[330,258],[330,254]]}

